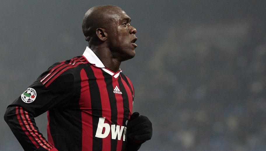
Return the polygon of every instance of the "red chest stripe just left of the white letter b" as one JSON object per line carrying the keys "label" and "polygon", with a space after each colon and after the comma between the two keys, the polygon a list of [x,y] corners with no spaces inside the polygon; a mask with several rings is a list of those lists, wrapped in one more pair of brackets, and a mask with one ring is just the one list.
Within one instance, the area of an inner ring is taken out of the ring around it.
{"label": "red chest stripe just left of the white letter b", "polygon": [[81,76],[81,96],[80,96],[80,110],[82,121],[82,150],[92,151],[92,109],[90,100],[90,87],[88,76],[84,69],[80,72]]}

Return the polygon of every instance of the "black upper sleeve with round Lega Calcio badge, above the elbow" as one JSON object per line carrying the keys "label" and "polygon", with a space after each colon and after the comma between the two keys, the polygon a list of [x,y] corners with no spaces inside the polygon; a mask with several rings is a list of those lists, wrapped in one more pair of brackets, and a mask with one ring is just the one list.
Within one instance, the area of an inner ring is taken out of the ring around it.
{"label": "black upper sleeve with round Lega Calcio badge, above the elbow", "polygon": [[52,108],[61,108],[69,101],[74,88],[74,76],[71,73],[57,77],[48,87],[38,78],[8,107],[22,107],[34,117]]}

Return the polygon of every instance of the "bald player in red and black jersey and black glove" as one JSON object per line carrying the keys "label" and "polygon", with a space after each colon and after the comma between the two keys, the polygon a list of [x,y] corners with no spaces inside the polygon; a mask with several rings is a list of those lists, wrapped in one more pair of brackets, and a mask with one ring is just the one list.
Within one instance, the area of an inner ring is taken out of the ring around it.
{"label": "bald player in red and black jersey and black glove", "polygon": [[[132,114],[134,88],[119,67],[135,56],[130,20],[118,6],[89,9],[83,55],[53,64],[8,106],[5,121],[24,150],[138,150],[151,138],[148,118]],[[34,121],[46,111],[48,140]]]}

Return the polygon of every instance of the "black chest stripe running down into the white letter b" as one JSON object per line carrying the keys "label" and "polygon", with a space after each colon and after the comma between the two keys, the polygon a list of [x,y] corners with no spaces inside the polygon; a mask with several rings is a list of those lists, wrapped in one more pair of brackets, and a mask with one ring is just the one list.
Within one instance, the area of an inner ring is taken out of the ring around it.
{"label": "black chest stripe running down into the white letter b", "polygon": [[[101,96],[98,84],[96,82],[96,77],[94,76],[94,72],[92,70],[92,66],[90,68],[84,68],[86,74],[89,79],[89,87],[90,87],[90,99],[91,99],[91,107],[92,107],[92,131],[93,131],[93,139],[92,139],[92,150],[102,150],[102,138],[95,137],[96,131],[98,128],[99,117],[102,117],[102,109],[101,109]],[[97,110],[99,109],[99,110]]]}

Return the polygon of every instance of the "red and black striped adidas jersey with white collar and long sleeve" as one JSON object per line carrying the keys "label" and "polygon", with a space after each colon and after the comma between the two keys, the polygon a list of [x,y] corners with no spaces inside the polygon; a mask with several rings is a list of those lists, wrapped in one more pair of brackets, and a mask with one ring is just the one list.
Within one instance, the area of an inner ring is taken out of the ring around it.
{"label": "red and black striped adidas jersey with white collar and long sleeve", "polygon": [[[86,48],[53,64],[7,108],[5,120],[24,150],[125,150],[134,89]],[[34,117],[47,111],[48,140]]]}

